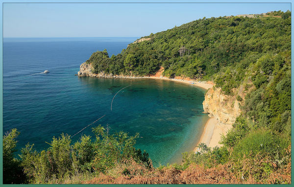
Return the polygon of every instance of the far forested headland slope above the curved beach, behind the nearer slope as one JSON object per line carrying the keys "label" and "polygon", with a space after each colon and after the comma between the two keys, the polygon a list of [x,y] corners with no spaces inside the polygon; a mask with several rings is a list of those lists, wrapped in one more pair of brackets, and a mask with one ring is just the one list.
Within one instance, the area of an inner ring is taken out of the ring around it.
{"label": "far forested headland slope above the curved beach, behind the nearer slope", "polygon": [[277,13],[285,16],[203,18],[151,33],[144,37],[150,40],[130,44],[110,58],[107,51],[97,51],[87,63],[93,63],[95,72],[148,75],[163,66],[166,76],[204,79],[233,66],[238,71],[234,79],[240,81],[250,63],[290,49],[291,13]]}

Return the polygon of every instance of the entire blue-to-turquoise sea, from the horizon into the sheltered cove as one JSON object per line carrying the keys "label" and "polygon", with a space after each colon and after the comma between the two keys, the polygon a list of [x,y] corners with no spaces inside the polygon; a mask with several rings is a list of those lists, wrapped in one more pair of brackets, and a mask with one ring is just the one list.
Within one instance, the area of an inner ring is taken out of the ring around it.
{"label": "entire blue-to-turquoise sea, from the horizon into the sheltered cove", "polygon": [[[208,117],[202,114],[204,90],[155,79],[102,79],[74,74],[96,50],[118,54],[136,38],[4,39],[3,132],[17,128],[18,148],[37,150],[61,133],[91,135],[101,124],[110,132],[140,133],[136,147],[153,165],[180,163],[193,150]],[[49,70],[48,74],[35,74]],[[32,75],[35,74],[35,75]],[[110,105],[116,95],[112,111]]]}

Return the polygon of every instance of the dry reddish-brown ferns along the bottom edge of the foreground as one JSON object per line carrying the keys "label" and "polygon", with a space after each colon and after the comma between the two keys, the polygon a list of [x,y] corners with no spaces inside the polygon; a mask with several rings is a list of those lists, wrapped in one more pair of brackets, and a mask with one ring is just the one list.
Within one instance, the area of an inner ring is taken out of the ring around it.
{"label": "dry reddish-brown ferns along the bottom edge of the foreground", "polygon": [[[267,163],[267,159],[261,159],[254,164],[245,162],[240,169],[247,173],[243,176],[245,174],[237,171],[233,163],[219,164],[212,168],[190,164],[185,170],[180,170],[173,166],[147,169],[131,161],[114,168],[115,173],[100,173],[99,177],[84,184],[275,184],[277,182],[291,184],[291,162],[285,168],[276,169],[268,176],[264,176],[265,180],[256,181],[254,175],[260,172],[259,165],[264,163]],[[123,174],[125,168],[128,171],[126,175]]]}

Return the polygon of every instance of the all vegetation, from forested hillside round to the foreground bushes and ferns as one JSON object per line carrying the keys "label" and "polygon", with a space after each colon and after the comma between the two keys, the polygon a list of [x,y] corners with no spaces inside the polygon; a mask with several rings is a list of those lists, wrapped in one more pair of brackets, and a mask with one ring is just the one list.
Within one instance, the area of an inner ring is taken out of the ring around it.
{"label": "all vegetation, from forested hillside round to the foreground bushes and ferns", "polygon": [[291,12],[270,16],[203,18],[87,61],[94,72],[147,75],[162,66],[165,76],[213,80],[242,109],[222,147],[200,144],[200,152],[183,153],[183,164],[153,168],[134,148],[137,135],[98,126],[94,141],[61,135],[41,152],[27,144],[15,159],[13,129],[3,137],[4,183],[291,183]]}

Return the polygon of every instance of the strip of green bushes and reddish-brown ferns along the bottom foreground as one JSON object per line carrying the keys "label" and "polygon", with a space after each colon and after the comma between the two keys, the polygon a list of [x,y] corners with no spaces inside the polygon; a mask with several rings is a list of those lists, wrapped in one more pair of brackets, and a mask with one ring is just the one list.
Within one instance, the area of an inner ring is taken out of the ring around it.
{"label": "strip of green bushes and reddish-brown ferns along the bottom foreground", "polygon": [[[242,123],[242,122],[241,122]],[[242,124],[238,124],[238,127]],[[244,124],[243,124],[244,125]],[[136,136],[108,135],[99,125],[95,140],[82,136],[71,143],[62,134],[41,152],[27,144],[20,159],[13,158],[19,132],[3,137],[4,184],[289,184],[289,142],[270,132],[256,132],[238,143],[183,154],[183,164],[152,167],[146,152],[135,149]],[[231,131],[232,133],[233,131]],[[279,147],[281,146],[281,147]]]}

